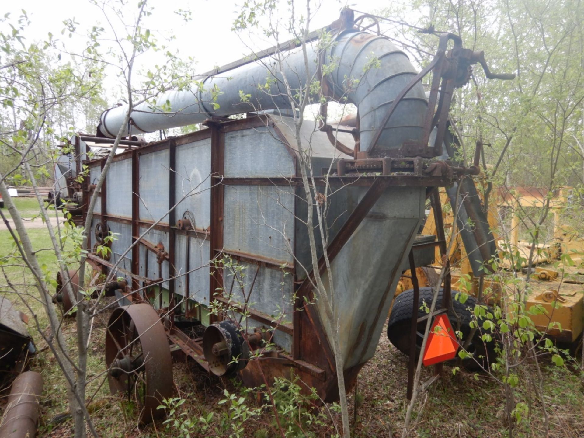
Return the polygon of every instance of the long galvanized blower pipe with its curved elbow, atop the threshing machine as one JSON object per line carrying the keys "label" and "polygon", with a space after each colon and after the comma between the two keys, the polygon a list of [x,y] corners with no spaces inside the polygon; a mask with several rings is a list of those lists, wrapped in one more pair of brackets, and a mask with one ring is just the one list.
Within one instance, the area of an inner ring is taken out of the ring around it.
{"label": "long galvanized blower pipe with its curved elbow, atop the threshing machine", "polygon": [[[308,77],[317,79],[319,53],[312,44],[308,50]],[[324,64],[331,73],[325,77],[332,98],[354,103],[360,115],[360,150],[370,151],[371,141],[383,123],[395,96],[415,77],[408,57],[390,40],[354,29],[340,33],[326,53]],[[269,65],[269,68],[267,66]],[[280,65],[278,65],[280,64]],[[268,70],[277,71],[277,79]],[[202,123],[211,116],[231,116],[249,111],[290,108],[282,75],[293,91],[306,85],[307,75],[301,50],[292,50],[283,59],[263,58],[222,75],[202,79],[202,87],[169,91],[159,96],[157,106],[170,106],[161,112],[142,103],[131,113],[129,127],[122,135],[154,132],[188,124]],[[311,79],[312,80],[312,79]],[[242,95],[250,95],[242,102]],[[401,147],[406,141],[423,137],[423,118],[427,100],[421,82],[399,103],[384,127],[375,155]],[[116,137],[126,116],[127,105],[106,110],[100,117],[98,135]],[[129,129],[128,129],[129,128]]]}

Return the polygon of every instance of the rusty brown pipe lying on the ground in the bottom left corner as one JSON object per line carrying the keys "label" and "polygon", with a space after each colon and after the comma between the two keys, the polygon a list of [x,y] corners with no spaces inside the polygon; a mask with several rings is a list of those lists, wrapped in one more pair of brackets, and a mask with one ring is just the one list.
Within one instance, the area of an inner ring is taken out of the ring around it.
{"label": "rusty brown pipe lying on the ground in the bottom left corner", "polygon": [[0,423],[0,438],[34,438],[41,392],[43,378],[39,373],[26,371],[16,377]]}

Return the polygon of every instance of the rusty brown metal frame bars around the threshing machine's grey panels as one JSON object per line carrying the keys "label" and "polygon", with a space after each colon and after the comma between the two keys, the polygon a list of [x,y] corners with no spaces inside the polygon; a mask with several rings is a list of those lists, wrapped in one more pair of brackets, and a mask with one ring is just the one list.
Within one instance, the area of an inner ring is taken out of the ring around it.
{"label": "rusty brown metal frame bars around the threshing machine's grey panels", "polygon": [[[175,226],[175,212],[171,211],[169,214],[168,224],[159,223],[154,226],[155,229],[161,230],[164,232],[168,232],[169,234],[169,255],[172,254],[171,245],[173,241],[176,239],[177,234],[187,235],[189,237],[199,237],[201,234],[204,234],[209,237],[210,239],[210,260],[213,260],[217,256],[221,255],[222,253],[230,255],[236,259],[244,260],[246,262],[263,264],[269,267],[278,267],[280,268],[281,265],[276,262],[272,262],[272,260],[260,258],[255,255],[249,255],[246,253],[237,253],[233,251],[224,251],[223,248],[223,198],[224,198],[224,187],[225,186],[238,186],[238,185],[277,185],[277,186],[294,186],[300,187],[301,178],[298,176],[299,169],[297,169],[297,176],[291,178],[224,178],[224,154],[225,154],[225,144],[224,144],[224,137],[225,133],[231,131],[242,130],[245,128],[253,128],[253,127],[260,127],[260,126],[267,126],[270,123],[269,118],[266,116],[258,116],[253,117],[251,119],[243,119],[237,121],[227,121],[227,122],[217,122],[217,121],[210,121],[207,123],[208,130],[199,131],[196,137],[197,139],[203,140],[203,138],[211,138],[211,176],[213,178],[213,184],[211,185],[211,226],[208,230],[179,230]],[[206,132],[207,131],[207,132]],[[276,131],[276,135],[279,133]],[[96,213],[95,216],[100,218],[101,220],[107,221],[118,221],[120,223],[131,225],[133,228],[133,242],[136,240],[136,237],[139,236],[138,231],[140,227],[144,226],[151,226],[153,222],[144,221],[140,219],[139,215],[139,204],[140,204],[140,192],[139,192],[139,183],[140,183],[140,156],[144,154],[148,154],[150,152],[155,152],[159,150],[164,150],[166,148],[170,149],[169,153],[169,208],[174,206],[176,201],[175,199],[175,183],[173,183],[173,176],[174,175],[174,167],[175,163],[173,160],[175,159],[175,148],[176,145],[179,144],[186,144],[190,141],[196,141],[192,138],[192,135],[189,135],[189,141],[185,141],[183,137],[179,137],[176,139],[168,139],[165,141],[160,141],[155,144],[146,145],[141,148],[137,148],[135,150],[122,152],[120,155],[124,156],[124,159],[131,157],[132,159],[132,217],[131,218],[124,218],[124,217],[116,217],[114,215],[107,214],[107,211],[103,210],[102,214]],[[280,137],[280,140],[286,144],[285,138]],[[128,157],[129,156],[129,157]],[[385,166],[385,162],[383,160],[379,161],[380,166]],[[97,164],[97,163],[95,163]],[[92,165],[95,165],[92,163]],[[391,172],[391,164],[387,165],[389,172]],[[421,169],[421,168],[420,168]],[[412,168],[412,170],[414,170]],[[464,170],[464,169],[462,169]],[[388,173],[389,173],[388,172]],[[331,185],[331,186],[363,186],[369,187],[367,193],[361,199],[357,208],[349,215],[347,218],[346,223],[343,225],[341,230],[339,230],[338,234],[335,238],[331,241],[331,244],[328,248],[328,256],[329,260],[335,259],[336,255],[340,252],[343,245],[345,245],[346,241],[352,236],[353,232],[359,226],[361,221],[363,221],[364,217],[369,213],[370,209],[376,203],[377,199],[384,193],[388,187],[392,186],[419,186],[419,187],[434,187],[434,186],[444,186],[452,183],[456,180],[458,175],[455,174],[444,174],[440,176],[432,176],[427,173],[422,173],[418,170],[416,173],[411,173],[409,175],[376,175],[376,176],[363,176],[363,175],[354,175],[348,174],[345,176],[328,176],[328,177],[320,177],[316,178],[317,185]],[[103,191],[105,193],[105,190]],[[102,202],[106,202],[105,196],[102,197]],[[137,290],[140,288],[139,282],[144,282],[144,277],[140,276],[139,266],[140,266],[140,251],[139,245],[135,245],[133,248],[133,255],[132,255],[132,272],[127,273],[131,274],[133,277],[133,288]],[[111,263],[107,263],[105,260],[92,260],[96,263],[99,263],[102,266],[113,266]],[[169,260],[170,261],[170,260]],[[172,270],[173,270],[174,262],[171,261],[171,265],[169,267],[169,274],[172,277]],[[325,263],[324,257],[321,257],[319,260],[319,270],[320,272],[324,272]],[[286,269],[289,269],[292,273],[294,273],[294,266],[290,265],[287,266]],[[223,273],[221,272],[220,266],[211,266],[210,271],[213,273],[211,276],[210,281],[210,290],[209,296],[210,300],[218,300],[224,302],[229,305],[234,305],[237,307],[237,303],[229,302],[225,297],[216,296],[215,292],[221,290],[223,288]],[[311,277],[313,278],[312,274]],[[169,283],[170,286],[170,283]],[[286,356],[286,354],[277,354],[278,357],[267,358],[266,360],[276,360],[277,363],[280,363],[281,360],[288,360],[290,362],[289,366],[298,367],[298,369],[304,370],[307,373],[311,374],[311,376],[318,378],[319,380],[326,380],[328,381],[327,376],[333,376],[335,374],[335,361],[334,356],[329,345],[328,339],[326,339],[326,333],[324,327],[322,326],[322,322],[319,319],[319,316],[312,305],[305,305],[304,300],[312,300],[312,287],[311,282],[308,279],[305,279],[300,286],[296,288],[297,293],[297,301],[295,306],[295,311],[293,312],[293,322],[292,324],[275,324],[272,322],[272,318],[269,315],[262,314],[258,311],[251,311],[251,315],[254,319],[258,320],[260,323],[265,324],[267,326],[275,327],[277,326],[278,329],[291,335],[293,338],[292,342],[292,354],[290,356]],[[170,294],[171,296],[173,294]],[[135,297],[138,302],[142,301],[140,297]],[[193,340],[188,338],[188,336],[180,331],[175,325],[172,324],[172,316],[170,315],[171,319],[171,326],[167,329],[167,335],[169,339],[176,345],[180,347],[187,355],[193,357],[193,359],[197,360],[203,367],[206,366],[206,363],[203,359],[202,355],[202,347],[200,346],[200,340]],[[210,315],[213,321],[215,321],[213,315]],[[303,336],[304,335],[304,336]],[[312,349],[312,352],[310,351]],[[314,358],[314,349],[319,349],[322,353],[321,360],[316,360]],[[305,359],[311,361],[308,363]],[[353,370],[356,372],[355,370]],[[352,375],[354,374],[352,371]]]}

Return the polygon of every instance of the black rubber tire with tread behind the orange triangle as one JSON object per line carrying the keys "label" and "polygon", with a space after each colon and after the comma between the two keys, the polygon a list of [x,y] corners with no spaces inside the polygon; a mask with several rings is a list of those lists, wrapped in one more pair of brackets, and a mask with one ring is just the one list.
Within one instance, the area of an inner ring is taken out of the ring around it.
{"label": "black rubber tire with tread behind the orange triangle", "polygon": [[[457,291],[452,291],[452,297],[454,298]],[[441,288],[438,293],[438,298],[436,301],[436,310],[442,308],[442,294],[443,289]],[[432,303],[433,290],[432,287],[420,287],[419,304],[418,304],[418,318],[426,315],[426,311],[420,309],[423,302],[425,301],[427,307],[430,307]],[[413,301],[413,289],[406,290],[395,297],[394,305],[391,310],[390,321],[387,324],[387,337],[390,342],[402,353],[409,355],[409,333],[411,329],[411,319],[412,319],[412,301]],[[452,300],[450,311],[448,312],[448,317],[450,323],[452,324],[454,330],[460,330],[463,333],[463,338],[460,343],[468,338],[471,332],[470,323],[472,321],[472,315],[477,300],[474,297],[468,297],[464,304],[461,304],[457,300]],[[458,326],[458,321],[460,318],[460,327]],[[421,321],[418,323],[418,332],[423,333],[426,328],[426,321]],[[467,357],[462,360],[462,366],[468,371],[480,371],[482,367],[488,366],[490,361],[495,360],[495,340],[491,342],[484,342],[481,339],[481,331],[477,330],[472,338],[470,345],[467,347],[467,351],[473,353],[474,359],[472,357]],[[422,337],[416,336],[416,359],[420,353],[420,347],[422,346]],[[482,356],[482,357],[481,357]],[[456,365],[458,359],[453,359],[449,361],[449,364]],[[477,363],[478,362],[478,363]]]}

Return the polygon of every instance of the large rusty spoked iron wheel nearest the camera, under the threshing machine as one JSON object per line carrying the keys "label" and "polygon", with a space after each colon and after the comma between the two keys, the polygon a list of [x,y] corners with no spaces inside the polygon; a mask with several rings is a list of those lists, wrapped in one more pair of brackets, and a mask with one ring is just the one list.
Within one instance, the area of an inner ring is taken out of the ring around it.
{"label": "large rusty spoked iron wheel nearest the camera, under the threshing machine", "polygon": [[126,392],[140,409],[140,422],[164,417],[157,409],[172,397],[172,358],[164,325],[149,304],[118,307],[106,332],[107,380],[112,394]]}

